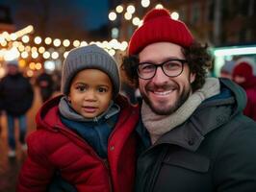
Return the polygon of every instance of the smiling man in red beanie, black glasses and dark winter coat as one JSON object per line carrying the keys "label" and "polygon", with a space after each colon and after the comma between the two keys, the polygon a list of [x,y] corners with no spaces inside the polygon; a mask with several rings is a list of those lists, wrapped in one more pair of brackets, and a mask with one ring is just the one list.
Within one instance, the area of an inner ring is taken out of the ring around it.
{"label": "smiling man in red beanie, black glasses and dark winter coat", "polygon": [[166,10],[148,12],[122,69],[142,96],[136,191],[256,191],[256,124],[243,89],[206,78],[207,47]]}

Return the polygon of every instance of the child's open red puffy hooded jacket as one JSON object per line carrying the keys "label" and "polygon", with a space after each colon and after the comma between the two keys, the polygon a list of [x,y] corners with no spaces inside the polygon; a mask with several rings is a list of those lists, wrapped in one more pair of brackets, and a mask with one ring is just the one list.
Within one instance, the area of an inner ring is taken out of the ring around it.
{"label": "child's open red puffy hooded jacket", "polygon": [[108,159],[103,159],[84,138],[65,127],[59,102],[60,97],[51,99],[38,111],[38,130],[27,139],[28,158],[20,172],[17,191],[46,191],[56,174],[77,191],[133,191],[137,144],[134,129],[139,108],[118,97],[121,109],[109,137]]}

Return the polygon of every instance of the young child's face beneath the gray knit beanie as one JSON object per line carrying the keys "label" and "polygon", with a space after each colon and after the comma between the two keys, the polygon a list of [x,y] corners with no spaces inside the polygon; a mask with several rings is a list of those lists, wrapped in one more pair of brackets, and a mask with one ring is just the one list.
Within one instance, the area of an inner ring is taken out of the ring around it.
{"label": "young child's face beneath the gray knit beanie", "polygon": [[109,107],[112,94],[113,85],[106,73],[98,69],[85,69],[74,77],[68,100],[77,113],[93,118]]}

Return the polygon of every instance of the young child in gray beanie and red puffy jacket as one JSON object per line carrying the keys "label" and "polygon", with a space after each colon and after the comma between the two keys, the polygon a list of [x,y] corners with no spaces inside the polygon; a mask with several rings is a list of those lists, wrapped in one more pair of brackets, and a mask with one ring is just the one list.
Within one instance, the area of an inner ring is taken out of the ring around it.
{"label": "young child in gray beanie and red puffy jacket", "polygon": [[133,191],[139,108],[118,94],[115,60],[89,45],[64,60],[62,91],[39,109],[17,191],[47,191],[58,175],[90,192]]}

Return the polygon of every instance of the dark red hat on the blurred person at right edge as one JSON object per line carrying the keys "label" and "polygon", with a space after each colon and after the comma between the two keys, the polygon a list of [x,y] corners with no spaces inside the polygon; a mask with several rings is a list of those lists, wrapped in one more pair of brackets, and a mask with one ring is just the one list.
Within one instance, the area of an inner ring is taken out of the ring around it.
{"label": "dark red hat on the blurred person at right edge", "polygon": [[253,76],[252,66],[245,61],[236,64],[233,70],[233,77],[235,76],[242,76],[245,79],[251,78]]}

